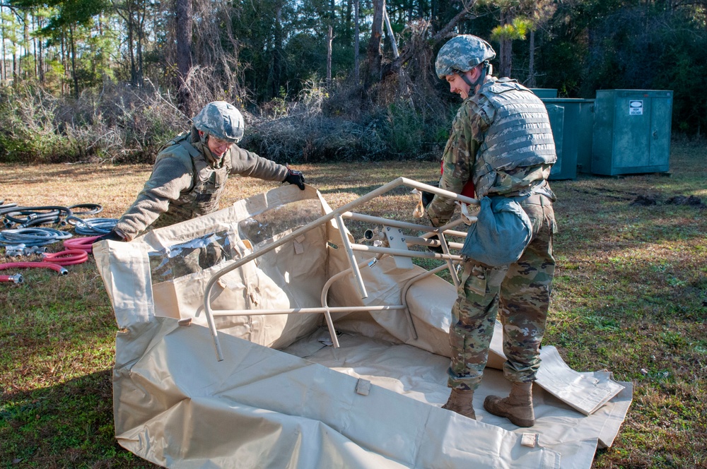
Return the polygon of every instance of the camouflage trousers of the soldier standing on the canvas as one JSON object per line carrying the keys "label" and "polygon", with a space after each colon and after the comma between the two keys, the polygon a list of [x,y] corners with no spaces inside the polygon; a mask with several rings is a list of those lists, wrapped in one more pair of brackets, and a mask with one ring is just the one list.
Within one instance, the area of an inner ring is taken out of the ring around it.
{"label": "camouflage trousers of the soldier standing on the canvas", "polygon": [[450,327],[450,388],[473,390],[481,384],[496,316],[503,325],[506,379],[521,383],[535,380],[555,271],[552,237],[556,225],[549,198],[532,200],[538,203],[521,202],[532,222],[533,235],[517,262],[501,267],[471,259],[462,263]]}

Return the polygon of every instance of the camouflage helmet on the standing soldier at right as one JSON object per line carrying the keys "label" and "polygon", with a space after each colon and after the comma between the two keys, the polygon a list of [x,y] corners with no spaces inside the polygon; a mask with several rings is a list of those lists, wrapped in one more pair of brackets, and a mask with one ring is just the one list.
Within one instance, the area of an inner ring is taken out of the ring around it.
{"label": "camouflage helmet on the standing soldier at right", "polygon": [[445,76],[456,72],[469,71],[481,62],[494,57],[496,57],[496,52],[491,44],[481,37],[462,34],[452,37],[442,46],[437,54],[435,69],[437,76],[444,79]]}

